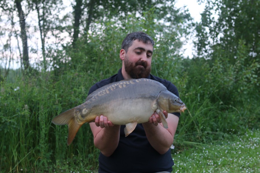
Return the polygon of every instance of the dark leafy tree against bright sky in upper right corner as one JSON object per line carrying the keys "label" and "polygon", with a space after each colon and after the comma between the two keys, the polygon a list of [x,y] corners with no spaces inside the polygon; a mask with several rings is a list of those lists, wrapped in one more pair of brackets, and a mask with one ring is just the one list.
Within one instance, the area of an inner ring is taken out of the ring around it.
{"label": "dark leafy tree against bright sky in upper right corner", "polygon": [[[222,49],[234,64],[240,40],[248,47],[249,63],[260,58],[259,0],[207,0],[202,21],[197,25],[200,55]],[[217,15],[216,15],[217,14]],[[232,57],[233,56],[233,57]],[[211,56],[212,57],[212,56]],[[232,57],[232,58],[231,58]]]}

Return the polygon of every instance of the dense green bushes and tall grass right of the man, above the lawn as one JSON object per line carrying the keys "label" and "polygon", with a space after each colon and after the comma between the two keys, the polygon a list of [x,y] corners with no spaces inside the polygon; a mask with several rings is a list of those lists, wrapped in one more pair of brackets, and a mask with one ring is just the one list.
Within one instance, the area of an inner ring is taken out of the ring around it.
{"label": "dense green bushes and tall grass right of the man, above the lawn", "polygon": [[176,138],[188,136],[190,140],[192,135],[192,141],[209,142],[221,137],[226,129],[238,132],[259,125],[260,66],[256,61],[245,63],[245,48],[241,41],[235,64],[222,57],[221,51],[213,52],[218,57],[213,61],[199,58],[182,61],[186,73],[179,78],[186,83],[180,96],[188,111],[180,121]]}

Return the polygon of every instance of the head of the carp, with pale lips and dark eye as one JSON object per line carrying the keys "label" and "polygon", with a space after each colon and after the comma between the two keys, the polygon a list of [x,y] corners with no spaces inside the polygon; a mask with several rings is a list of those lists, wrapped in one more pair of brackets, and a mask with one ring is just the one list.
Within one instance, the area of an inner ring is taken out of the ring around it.
{"label": "head of the carp, with pale lips and dark eye", "polygon": [[170,91],[161,91],[157,101],[160,108],[167,112],[184,112],[187,109],[183,101]]}

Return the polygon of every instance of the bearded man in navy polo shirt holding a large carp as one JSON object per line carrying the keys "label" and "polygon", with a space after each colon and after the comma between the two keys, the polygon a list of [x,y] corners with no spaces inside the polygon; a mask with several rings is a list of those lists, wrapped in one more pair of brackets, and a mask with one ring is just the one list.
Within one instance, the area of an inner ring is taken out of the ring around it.
{"label": "bearded man in navy polo shirt holding a large carp", "polygon": [[[176,86],[150,74],[154,42],[143,32],[130,33],[122,42],[118,74],[101,80],[91,87],[89,94],[102,86],[130,78],[149,78],[161,82],[179,97]],[[155,112],[149,122],[138,124],[125,137],[125,125],[113,125],[105,115],[90,123],[94,145],[100,150],[99,172],[171,172],[173,161],[170,146],[180,114],[164,111],[168,129]]]}

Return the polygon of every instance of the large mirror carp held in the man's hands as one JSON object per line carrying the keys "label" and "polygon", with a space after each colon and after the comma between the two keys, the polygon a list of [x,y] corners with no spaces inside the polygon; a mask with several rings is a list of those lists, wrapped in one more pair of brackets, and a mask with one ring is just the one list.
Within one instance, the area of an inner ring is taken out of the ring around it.
{"label": "large mirror carp held in the man's hands", "polygon": [[115,125],[126,125],[127,137],[138,123],[146,123],[157,112],[165,128],[168,128],[163,111],[184,112],[186,105],[179,97],[155,80],[140,78],[107,84],[92,92],[86,101],[55,118],[55,125],[68,125],[67,144],[70,145],[84,123],[95,121],[104,115]]}

